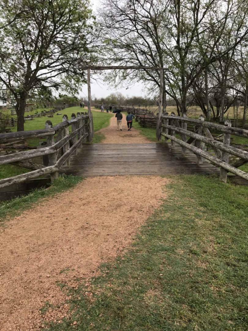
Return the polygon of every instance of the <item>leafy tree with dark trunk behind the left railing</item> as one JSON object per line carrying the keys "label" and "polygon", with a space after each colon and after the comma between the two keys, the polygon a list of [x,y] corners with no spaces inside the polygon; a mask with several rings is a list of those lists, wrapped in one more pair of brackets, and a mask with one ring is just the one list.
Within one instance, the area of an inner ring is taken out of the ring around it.
{"label": "leafy tree with dark trunk behind the left railing", "polygon": [[[1,92],[15,104],[18,131],[24,130],[31,94],[51,95],[51,89],[75,93],[84,81],[80,66],[94,58],[94,18],[88,5],[88,0],[17,0],[9,12],[2,6],[0,20],[4,25],[8,17],[11,23],[0,30]],[[16,7],[23,13],[14,20]]]}

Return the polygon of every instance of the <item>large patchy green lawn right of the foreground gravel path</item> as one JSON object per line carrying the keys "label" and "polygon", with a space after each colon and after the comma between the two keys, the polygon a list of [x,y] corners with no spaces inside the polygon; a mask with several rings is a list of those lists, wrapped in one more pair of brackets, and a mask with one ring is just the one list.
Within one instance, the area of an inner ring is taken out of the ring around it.
{"label": "large patchy green lawn right of the foreground gravel path", "polygon": [[191,175],[166,190],[124,256],[60,284],[71,317],[49,330],[247,330],[247,188]]}

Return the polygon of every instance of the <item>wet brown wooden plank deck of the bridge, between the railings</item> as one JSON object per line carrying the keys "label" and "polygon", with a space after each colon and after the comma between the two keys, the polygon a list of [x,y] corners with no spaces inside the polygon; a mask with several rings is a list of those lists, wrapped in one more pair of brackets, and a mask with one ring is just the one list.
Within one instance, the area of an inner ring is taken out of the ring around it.
{"label": "wet brown wooden plank deck of the bridge, between the railings", "polygon": [[181,147],[167,143],[146,144],[84,144],[78,155],[71,157],[71,165],[60,173],[78,176],[213,174],[219,169],[203,160],[196,164],[196,156]]}

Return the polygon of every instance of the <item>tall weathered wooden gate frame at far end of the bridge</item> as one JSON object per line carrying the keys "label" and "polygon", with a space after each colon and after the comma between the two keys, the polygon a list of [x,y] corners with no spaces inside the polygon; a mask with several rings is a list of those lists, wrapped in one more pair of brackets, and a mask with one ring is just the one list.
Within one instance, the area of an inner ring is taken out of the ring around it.
{"label": "tall weathered wooden gate frame at far end of the bridge", "polygon": [[[159,85],[159,103],[158,103],[158,114],[157,114],[157,126],[156,135],[157,139],[161,140],[161,116],[163,110],[163,71],[165,68],[161,67],[146,67],[146,66],[103,66],[103,67],[81,67],[83,70],[87,70],[87,84],[88,84],[88,117],[89,117],[89,137],[94,137],[93,120],[91,113],[91,84],[90,84],[90,71],[91,70],[114,70],[114,69],[146,69],[146,70],[159,70],[160,71],[160,85]],[[91,140],[90,140],[91,141]]]}

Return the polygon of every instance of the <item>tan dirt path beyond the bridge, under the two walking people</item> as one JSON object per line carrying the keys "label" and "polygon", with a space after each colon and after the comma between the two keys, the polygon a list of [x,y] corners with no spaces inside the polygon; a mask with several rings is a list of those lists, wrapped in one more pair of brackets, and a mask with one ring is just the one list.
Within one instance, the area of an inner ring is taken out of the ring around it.
{"label": "tan dirt path beyond the bridge, under the two walking people", "polygon": [[126,116],[124,114],[122,119],[122,131],[117,131],[116,118],[113,116],[110,119],[110,125],[99,130],[104,134],[105,139],[102,141],[103,144],[113,144],[113,143],[150,143],[145,136],[143,136],[139,130],[132,128],[131,131],[127,129]]}

